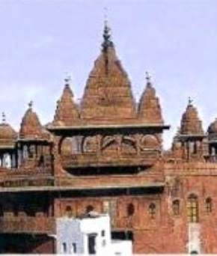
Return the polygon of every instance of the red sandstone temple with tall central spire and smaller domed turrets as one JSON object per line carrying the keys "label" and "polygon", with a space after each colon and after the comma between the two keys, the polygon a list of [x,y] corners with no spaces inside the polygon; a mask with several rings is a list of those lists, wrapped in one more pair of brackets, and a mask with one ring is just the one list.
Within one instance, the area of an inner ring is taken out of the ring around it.
{"label": "red sandstone temple with tall central spire and smaller domed turrets", "polygon": [[217,253],[217,121],[204,132],[189,101],[162,148],[150,78],[135,102],[105,25],[81,103],[69,79],[53,121],[29,104],[17,133],[0,124],[0,252],[55,253],[55,218],[95,210],[135,253]]}

